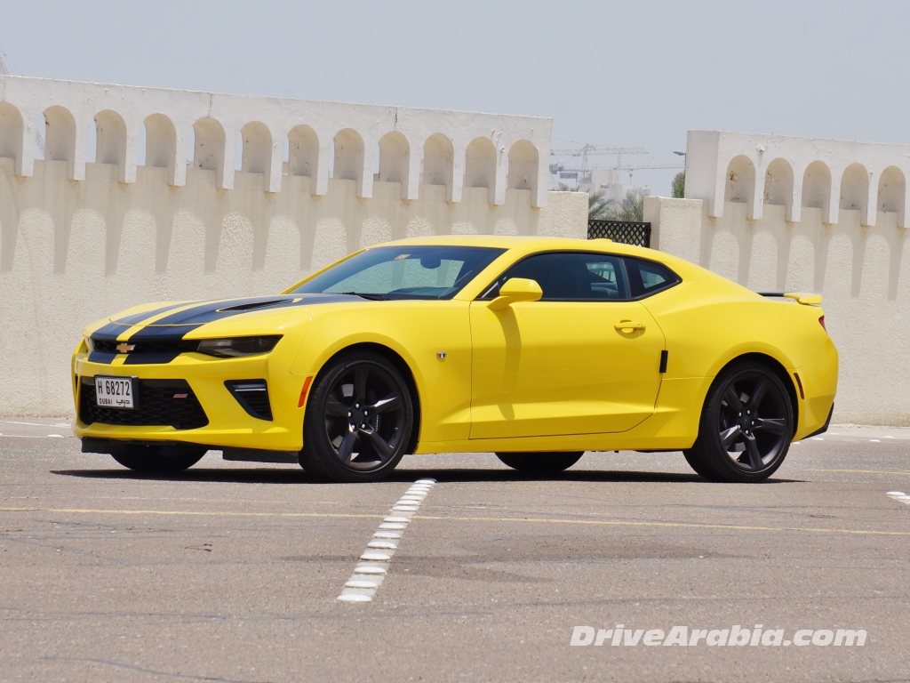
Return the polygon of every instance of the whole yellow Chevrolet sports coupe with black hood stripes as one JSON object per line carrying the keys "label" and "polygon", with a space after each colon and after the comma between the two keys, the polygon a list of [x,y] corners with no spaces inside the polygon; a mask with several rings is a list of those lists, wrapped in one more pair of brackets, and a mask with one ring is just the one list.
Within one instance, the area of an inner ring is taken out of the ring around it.
{"label": "whole yellow Chevrolet sports coupe with black hood stripes", "polygon": [[344,482],[404,454],[492,451],[557,472],[634,449],[757,482],[830,420],[837,352],[820,301],[610,240],[400,240],[276,296],[89,325],[76,434],[83,452],[158,472],[212,449]]}

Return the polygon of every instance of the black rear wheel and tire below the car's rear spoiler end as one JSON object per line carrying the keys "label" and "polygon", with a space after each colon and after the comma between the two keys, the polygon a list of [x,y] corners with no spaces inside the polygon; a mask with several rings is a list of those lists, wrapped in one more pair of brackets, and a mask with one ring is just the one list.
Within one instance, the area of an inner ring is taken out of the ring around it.
{"label": "black rear wheel and tire below the car's rear spoiler end", "polygon": [[685,459],[712,482],[763,482],[784,463],[794,413],[784,382],[760,362],[725,368],[711,385]]}

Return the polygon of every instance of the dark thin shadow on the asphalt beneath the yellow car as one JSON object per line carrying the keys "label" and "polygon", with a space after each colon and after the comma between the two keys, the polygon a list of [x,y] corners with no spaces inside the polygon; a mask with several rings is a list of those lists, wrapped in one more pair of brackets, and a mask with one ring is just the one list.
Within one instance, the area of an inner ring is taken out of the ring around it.
{"label": "dark thin shadow on the asphalt beneath the yellow car", "polygon": [[[130,470],[51,470],[51,474],[85,479],[149,480],[215,484],[331,484],[322,482],[301,469],[289,467],[205,468],[179,473],[145,473]],[[415,479],[433,478],[440,484],[496,482],[589,482],[589,483],[665,483],[711,484],[698,474],[671,472],[631,472],[624,470],[568,470],[555,474],[527,474],[500,469],[402,469],[395,470],[379,484],[411,484]],[[769,479],[762,484],[799,484],[798,479]]]}

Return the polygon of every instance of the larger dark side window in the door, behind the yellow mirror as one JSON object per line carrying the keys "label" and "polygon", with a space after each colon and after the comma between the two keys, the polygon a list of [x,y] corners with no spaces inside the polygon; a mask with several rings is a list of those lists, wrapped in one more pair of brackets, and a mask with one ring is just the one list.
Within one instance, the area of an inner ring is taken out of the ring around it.
{"label": "larger dark side window in the door, behind the yellow mirror", "polygon": [[480,296],[495,299],[511,278],[541,285],[541,301],[622,301],[629,299],[622,261],[615,256],[580,251],[536,254],[513,265]]}

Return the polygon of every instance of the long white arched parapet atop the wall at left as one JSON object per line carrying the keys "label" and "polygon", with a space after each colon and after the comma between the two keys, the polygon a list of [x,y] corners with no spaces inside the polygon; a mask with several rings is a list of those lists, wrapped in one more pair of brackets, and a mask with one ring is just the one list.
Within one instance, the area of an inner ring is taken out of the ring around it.
{"label": "long white arched parapet atop the wall at left", "polygon": [[508,188],[531,189],[533,207],[547,201],[550,118],[0,76],[0,157],[15,158],[17,176],[33,174],[40,131],[45,159],[65,161],[66,177],[84,180],[95,127],[96,161],[116,164],[119,182],[136,182],[143,126],[146,165],[165,168],[176,187],[186,184],[188,165],[215,171],[217,188],[233,189],[239,135],[239,168],[262,175],[265,192],[281,189],[287,141],[288,174],[315,178],[316,196],[337,178],[355,180],[357,197],[369,199],[378,167],[379,180],[401,184],[401,199],[418,199],[422,184],[444,186],[450,202],[465,187],[486,188],[496,206]]}

